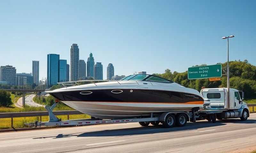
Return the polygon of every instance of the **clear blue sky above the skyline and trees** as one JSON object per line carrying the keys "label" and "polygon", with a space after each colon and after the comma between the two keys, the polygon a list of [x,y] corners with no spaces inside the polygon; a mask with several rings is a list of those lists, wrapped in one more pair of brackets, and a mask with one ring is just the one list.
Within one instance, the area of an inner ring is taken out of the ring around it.
{"label": "clear blue sky above the skyline and trees", "polygon": [[196,64],[247,59],[256,65],[256,1],[1,1],[0,65],[32,72],[40,61],[47,74],[47,54],[70,63],[77,43],[80,59],[92,52],[95,63],[108,63],[115,75],[135,71],[183,72]]}

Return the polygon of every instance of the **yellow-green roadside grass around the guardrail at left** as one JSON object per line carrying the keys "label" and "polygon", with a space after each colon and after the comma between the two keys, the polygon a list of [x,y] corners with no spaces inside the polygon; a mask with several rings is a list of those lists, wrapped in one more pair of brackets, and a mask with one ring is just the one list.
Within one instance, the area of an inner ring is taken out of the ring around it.
{"label": "yellow-green roadside grass around the guardrail at left", "polygon": [[[18,101],[20,97],[15,97],[14,94],[11,94],[11,99],[13,105],[11,107],[0,107],[0,113],[9,113],[9,112],[38,112],[38,111],[46,111],[44,107],[33,107],[33,106],[25,106],[24,108],[19,108],[14,105],[15,102]],[[43,104],[44,105],[44,104]],[[63,111],[63,110],[74,110],[71,107],[63,105],[61,103],[57,104],[54,108],[54,111]],[[67,120],[67,115],[58,115],[57,116],[61,120]],[[79,114],[79,115],[69,115],[69,120],[75,119],[85,119],[90,118],[89,115]],[[13,118],[13,127],[14,128],[25,128],[24,123],[35,122],[36,120],[40,120],[39,116],[35,117],[19,117]],[[48,116],[42,116],[42,121],[48,121]],[[0,118],[0,129],[8,129],[11,127],[11,118]]]}

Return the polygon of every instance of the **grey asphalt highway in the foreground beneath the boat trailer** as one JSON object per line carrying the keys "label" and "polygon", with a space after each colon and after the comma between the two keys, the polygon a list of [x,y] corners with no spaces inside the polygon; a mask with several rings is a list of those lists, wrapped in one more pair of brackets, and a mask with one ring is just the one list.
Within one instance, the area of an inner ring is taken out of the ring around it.
{"label": "grey asphalt highway in the foreground beneath the boat trailer", "polygon": [[1,153],[138,152],[219,153],[256,143],[256,113],[247,121],[187,123],[185,127],[140,127],[119,123],[0,133]]}

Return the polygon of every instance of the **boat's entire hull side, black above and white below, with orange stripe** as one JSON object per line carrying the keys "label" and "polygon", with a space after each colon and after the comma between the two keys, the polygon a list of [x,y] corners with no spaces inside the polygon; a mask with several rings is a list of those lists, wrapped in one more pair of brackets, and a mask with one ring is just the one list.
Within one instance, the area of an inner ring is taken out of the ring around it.
{"label": "boat's entire hull side, black above and white below, with orange stripe", "polygon": [[129,118],[202,107],[201,96],[151,89],[91,89],[50,93],[66,105],[100,119]]}

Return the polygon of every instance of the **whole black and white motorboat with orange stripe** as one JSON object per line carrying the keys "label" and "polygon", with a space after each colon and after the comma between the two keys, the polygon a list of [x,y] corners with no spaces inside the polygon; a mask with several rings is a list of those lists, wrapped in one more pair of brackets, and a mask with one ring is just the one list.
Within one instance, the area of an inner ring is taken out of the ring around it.
{"label": "whole black and white motorboat with orange stripe", "polygon": [[197,90],[147,74],[129,75],[120,81],[76,85],[47,92],[64,104],[99,119],[191,111],[204,104],[204,99]]}

